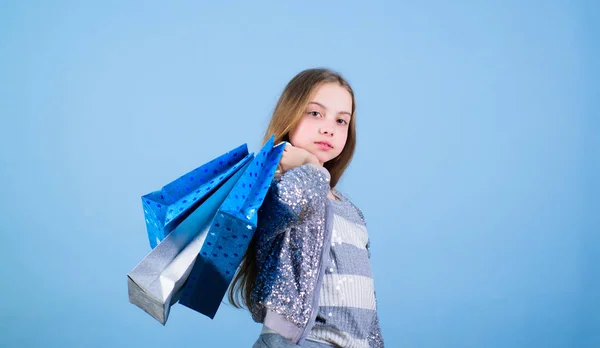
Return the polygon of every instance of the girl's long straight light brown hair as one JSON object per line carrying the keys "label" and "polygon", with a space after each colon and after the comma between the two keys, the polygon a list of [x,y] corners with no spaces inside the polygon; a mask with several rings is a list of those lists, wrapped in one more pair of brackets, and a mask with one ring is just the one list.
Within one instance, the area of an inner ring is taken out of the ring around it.
{"label": "girl's long straight light brown hair", "polygon": [[[275,144],[281,141],[289,141],[289,133],[298,125],[306,106],[314,96],[318,87],[326,83],[337,83],[344,87],[352,97],[352,117],[348,125],[348,138],[342,153],[336,158],[325,162],[323,166],[331,174],[331,187],[335,187],[342,174],[350,164],[354,149],[356,147],[356,103],[354,91],[350,84],[337,72],[329,69],[307,69],[294,76],[285,86],[279,101],[275,106],[271,122],[267,127],[263,138],[263,144],[275,134]],[[256,247],[254,240],[248,246],[239,270],[237,271],[231,287],[228,299],[234,307],[250,308],[250,296],[254,289],[256,279]],[[240,303],[241,297],[241,303]]]}

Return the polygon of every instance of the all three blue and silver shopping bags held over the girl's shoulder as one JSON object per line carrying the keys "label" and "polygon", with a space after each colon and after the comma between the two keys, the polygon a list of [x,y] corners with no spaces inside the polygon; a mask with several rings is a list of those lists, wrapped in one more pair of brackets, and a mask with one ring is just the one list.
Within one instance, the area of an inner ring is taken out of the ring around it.
{"label": "all three blue and silver shopping bags held over the girl's shoulder", "polygon": [[243,144],[142,197],[152,251],[127,275],[131,303],[163,325],[177,301],[214,318],[284,147]]}

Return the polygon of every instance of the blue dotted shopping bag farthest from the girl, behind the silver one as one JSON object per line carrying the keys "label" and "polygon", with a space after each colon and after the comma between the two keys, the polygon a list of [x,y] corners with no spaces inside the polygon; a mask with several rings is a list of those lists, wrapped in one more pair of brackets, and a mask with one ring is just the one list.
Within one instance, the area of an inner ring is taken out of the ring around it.
{"label": "blue dotted shopping bag farthest from the girl, behind the silver one", "polygon": [[150,246],[154,249],[203,199],[253,157],[243,144],[179,177],[160,191],[142,196]]}

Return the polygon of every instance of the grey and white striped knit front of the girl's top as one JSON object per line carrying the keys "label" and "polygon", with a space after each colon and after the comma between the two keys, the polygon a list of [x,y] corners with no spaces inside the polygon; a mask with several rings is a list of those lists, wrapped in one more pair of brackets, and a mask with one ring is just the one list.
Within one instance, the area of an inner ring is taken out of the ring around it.
{"label": "grey and white striped knit front of the girl's top", "polygon": [[331,201],[333,231],[319,294],[319,310],[309,340],[340,347],[369,347],[377,314],[373,272],[364,220],[345,198]]}

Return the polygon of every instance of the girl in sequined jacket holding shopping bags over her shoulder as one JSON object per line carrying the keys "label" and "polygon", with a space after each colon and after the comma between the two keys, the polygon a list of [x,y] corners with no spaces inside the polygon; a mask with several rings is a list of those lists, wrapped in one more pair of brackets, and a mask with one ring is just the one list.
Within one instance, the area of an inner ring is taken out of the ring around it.
{"label": "girl in sequined jacket holding shopping bags over her shoulder", "polygon": [[288,144],[229,292],[263,323],[255,348],[383,347],[364,217],[335,189],[355,117],[352,88],[326,69],[296,75],[275,107],[265,139]]}

